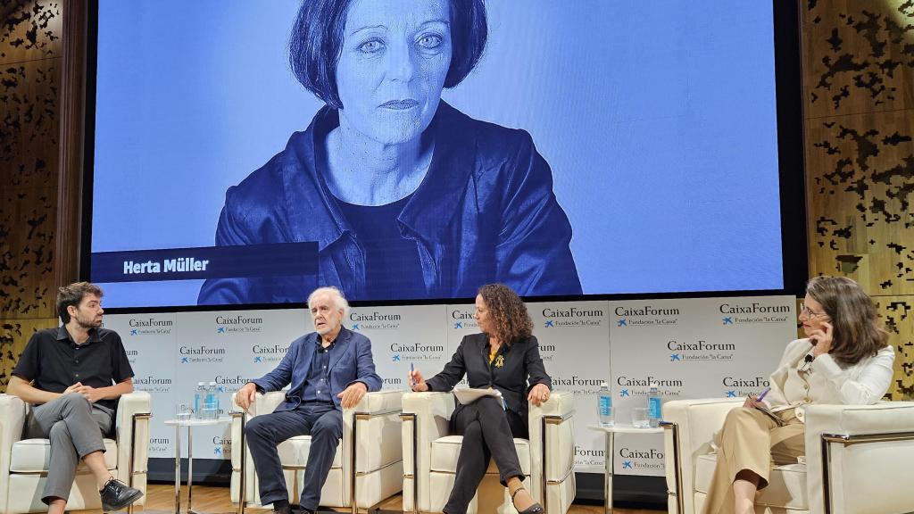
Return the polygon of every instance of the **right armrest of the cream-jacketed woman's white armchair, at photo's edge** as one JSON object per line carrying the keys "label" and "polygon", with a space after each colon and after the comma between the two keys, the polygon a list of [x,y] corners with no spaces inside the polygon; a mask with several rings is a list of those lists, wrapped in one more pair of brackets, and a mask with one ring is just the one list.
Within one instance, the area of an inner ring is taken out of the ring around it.
{"label": "right armrest of the cream-jacketed woman's white armchair, at photo's edge", "polygon": [[810,405],[805,423],[811,513],[914,511],[910,491],[887,479],[914,461],[914,402]]}

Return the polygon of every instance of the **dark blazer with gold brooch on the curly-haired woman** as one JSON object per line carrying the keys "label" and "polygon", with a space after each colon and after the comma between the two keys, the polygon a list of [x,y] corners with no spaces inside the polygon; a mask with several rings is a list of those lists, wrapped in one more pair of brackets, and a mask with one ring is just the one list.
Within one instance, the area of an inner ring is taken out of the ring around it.
{"label": "dark blazer with gold brooch on the curly-haired woman", "polygon": [[[499,360],[499,357],[504,360]],[[502,362],[502,366],[496,364]],[[451,391],[464,373],[470,387],[486,389],[493,387],[502,391],[505,398],[505,413],[515,437],[526,436],[526,395],[537,384],[552,389],[552,380],[546,374],[543,359],[539,357],[537,337],[515,341],[511,346],[503,344],[498,348],[492,364],[489,364],[489,337],[473,334],[463,337],[460,347],[454,352],[441,373],[426,380],[430,391]],[[527,379],[529,377],[529,379]],[[458,404],[452,415],[455,419],[463,405]],[[513,415],[512,415],[513,414]],[[518,426],[519,424],[519,426]],[[518,430],[522,429],[522,434]]]}

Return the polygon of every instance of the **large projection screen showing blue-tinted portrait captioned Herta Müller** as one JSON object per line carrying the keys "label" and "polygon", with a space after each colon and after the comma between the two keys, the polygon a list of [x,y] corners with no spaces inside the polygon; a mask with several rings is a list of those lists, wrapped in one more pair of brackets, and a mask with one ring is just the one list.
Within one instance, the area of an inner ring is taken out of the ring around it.
{"label": "large projection screen showing blue-tinted portrait captioned Herta M\u00fcller", "polygon": [[98,2],[106,306],[784,290],[772,3],[306,4]]}

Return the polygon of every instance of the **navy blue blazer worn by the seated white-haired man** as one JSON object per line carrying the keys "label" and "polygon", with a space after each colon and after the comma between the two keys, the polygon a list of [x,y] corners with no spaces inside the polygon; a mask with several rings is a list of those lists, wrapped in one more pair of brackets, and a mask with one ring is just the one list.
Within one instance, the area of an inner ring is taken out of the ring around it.
{"label": "navy blue blazer worn by the seated white-haired man", "polygon": [[[312,332],[295,339],[275,369],[260,379],[250,380],[263,392],[280,391],[285,386],[292,385],[286,393],[285,402],[276,408],[276,412],[291,411],[302,403],[304,380],[307,380],[311,370],[311,359],[314,359],[318,337],[317,332]],[[364,383],[368,392],[381,389],[381,378],[375,372],[375,360],[371,356],[371,341],[345,327],[336,336],[334,348],[330,351],[327,374],[330,375],[330,397],[340,410],[342,406],[336,395],[353,382]],[[298,396],[290,398],[290,394],[296,391]]]}

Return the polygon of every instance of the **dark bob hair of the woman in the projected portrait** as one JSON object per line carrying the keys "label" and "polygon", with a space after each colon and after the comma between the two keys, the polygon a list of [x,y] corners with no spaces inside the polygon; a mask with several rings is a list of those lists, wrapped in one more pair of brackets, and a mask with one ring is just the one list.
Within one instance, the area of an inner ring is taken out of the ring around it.
{"label": "dark bob hair of the woman in the projected portrait", "polygon": [[[336,91],[336,63],[343,47],[346,14],[353,0],[303,0],[289,38],[292,73],[327,105],[342,109]],[[483,56],[488,27],[484,0],[450,0],[451,67],[444,87],[452,88]]]}

